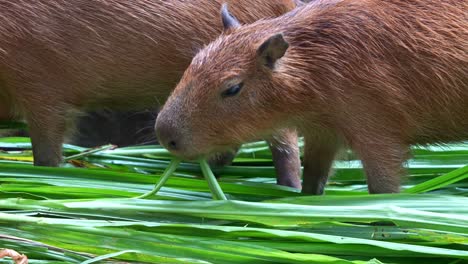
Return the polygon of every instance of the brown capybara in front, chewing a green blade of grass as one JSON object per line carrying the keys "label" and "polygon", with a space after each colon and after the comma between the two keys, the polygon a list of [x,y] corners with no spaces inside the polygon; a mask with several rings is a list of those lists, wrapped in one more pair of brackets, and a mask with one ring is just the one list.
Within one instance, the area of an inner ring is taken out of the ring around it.
{"label": "brown capybara in front, chewing a green blade of grass", "polygon": [[304,192],[323,193],[347,145],[369,192],[393,193],[410,144],[468,139],[467,0],[314,1],[245,26],[222,16],[228,34],[194,57],[156,121],[174,153],[297,127]]}

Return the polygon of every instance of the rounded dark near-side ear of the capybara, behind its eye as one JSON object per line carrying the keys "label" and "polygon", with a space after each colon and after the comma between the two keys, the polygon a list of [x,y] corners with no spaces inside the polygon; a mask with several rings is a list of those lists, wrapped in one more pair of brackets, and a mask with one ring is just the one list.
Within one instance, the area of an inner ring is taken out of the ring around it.
{"label": "rounded dark near-side ear of the capybara, behind its eye", "polygon": [[269,37],[257,49],[258,61],[261,65],[273,69],[275,62],[283,57],[289,44],[284,40],[283,34]]}

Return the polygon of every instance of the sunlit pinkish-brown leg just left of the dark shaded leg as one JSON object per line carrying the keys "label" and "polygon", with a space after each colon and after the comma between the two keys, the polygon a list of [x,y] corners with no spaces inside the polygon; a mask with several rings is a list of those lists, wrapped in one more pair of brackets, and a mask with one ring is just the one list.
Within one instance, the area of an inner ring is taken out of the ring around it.
{"label": "sunlit pinkish-brown leg just left of the dark shaded leg", "polygon": [[301,159],[297,132],[284,129],[275,133],[268,143],[276,171],[276,183],[301,189]]}

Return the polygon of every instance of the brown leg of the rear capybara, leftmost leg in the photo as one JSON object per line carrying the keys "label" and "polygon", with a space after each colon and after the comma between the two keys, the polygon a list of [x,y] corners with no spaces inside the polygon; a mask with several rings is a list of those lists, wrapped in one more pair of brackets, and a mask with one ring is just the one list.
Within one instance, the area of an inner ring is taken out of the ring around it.
{"label": "brown leg of the rear capybara, leftmost leg in the photo", "polygon": [[34,165],[56,167],[62,161],[65,115],[36,109],[28,113]]}

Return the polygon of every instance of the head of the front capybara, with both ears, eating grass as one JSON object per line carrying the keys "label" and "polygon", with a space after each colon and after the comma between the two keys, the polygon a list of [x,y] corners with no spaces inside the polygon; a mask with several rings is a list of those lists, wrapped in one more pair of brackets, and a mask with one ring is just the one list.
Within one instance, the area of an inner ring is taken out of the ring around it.
{"label": "head of the front capybara, with both ears, eating grass", "polygon": [[156,122],[161,144],[189,159],[270,135],[284,115],[288,42],[261,25],[240,26],[226,5],[221,15],[224,33],[194,57]]}

